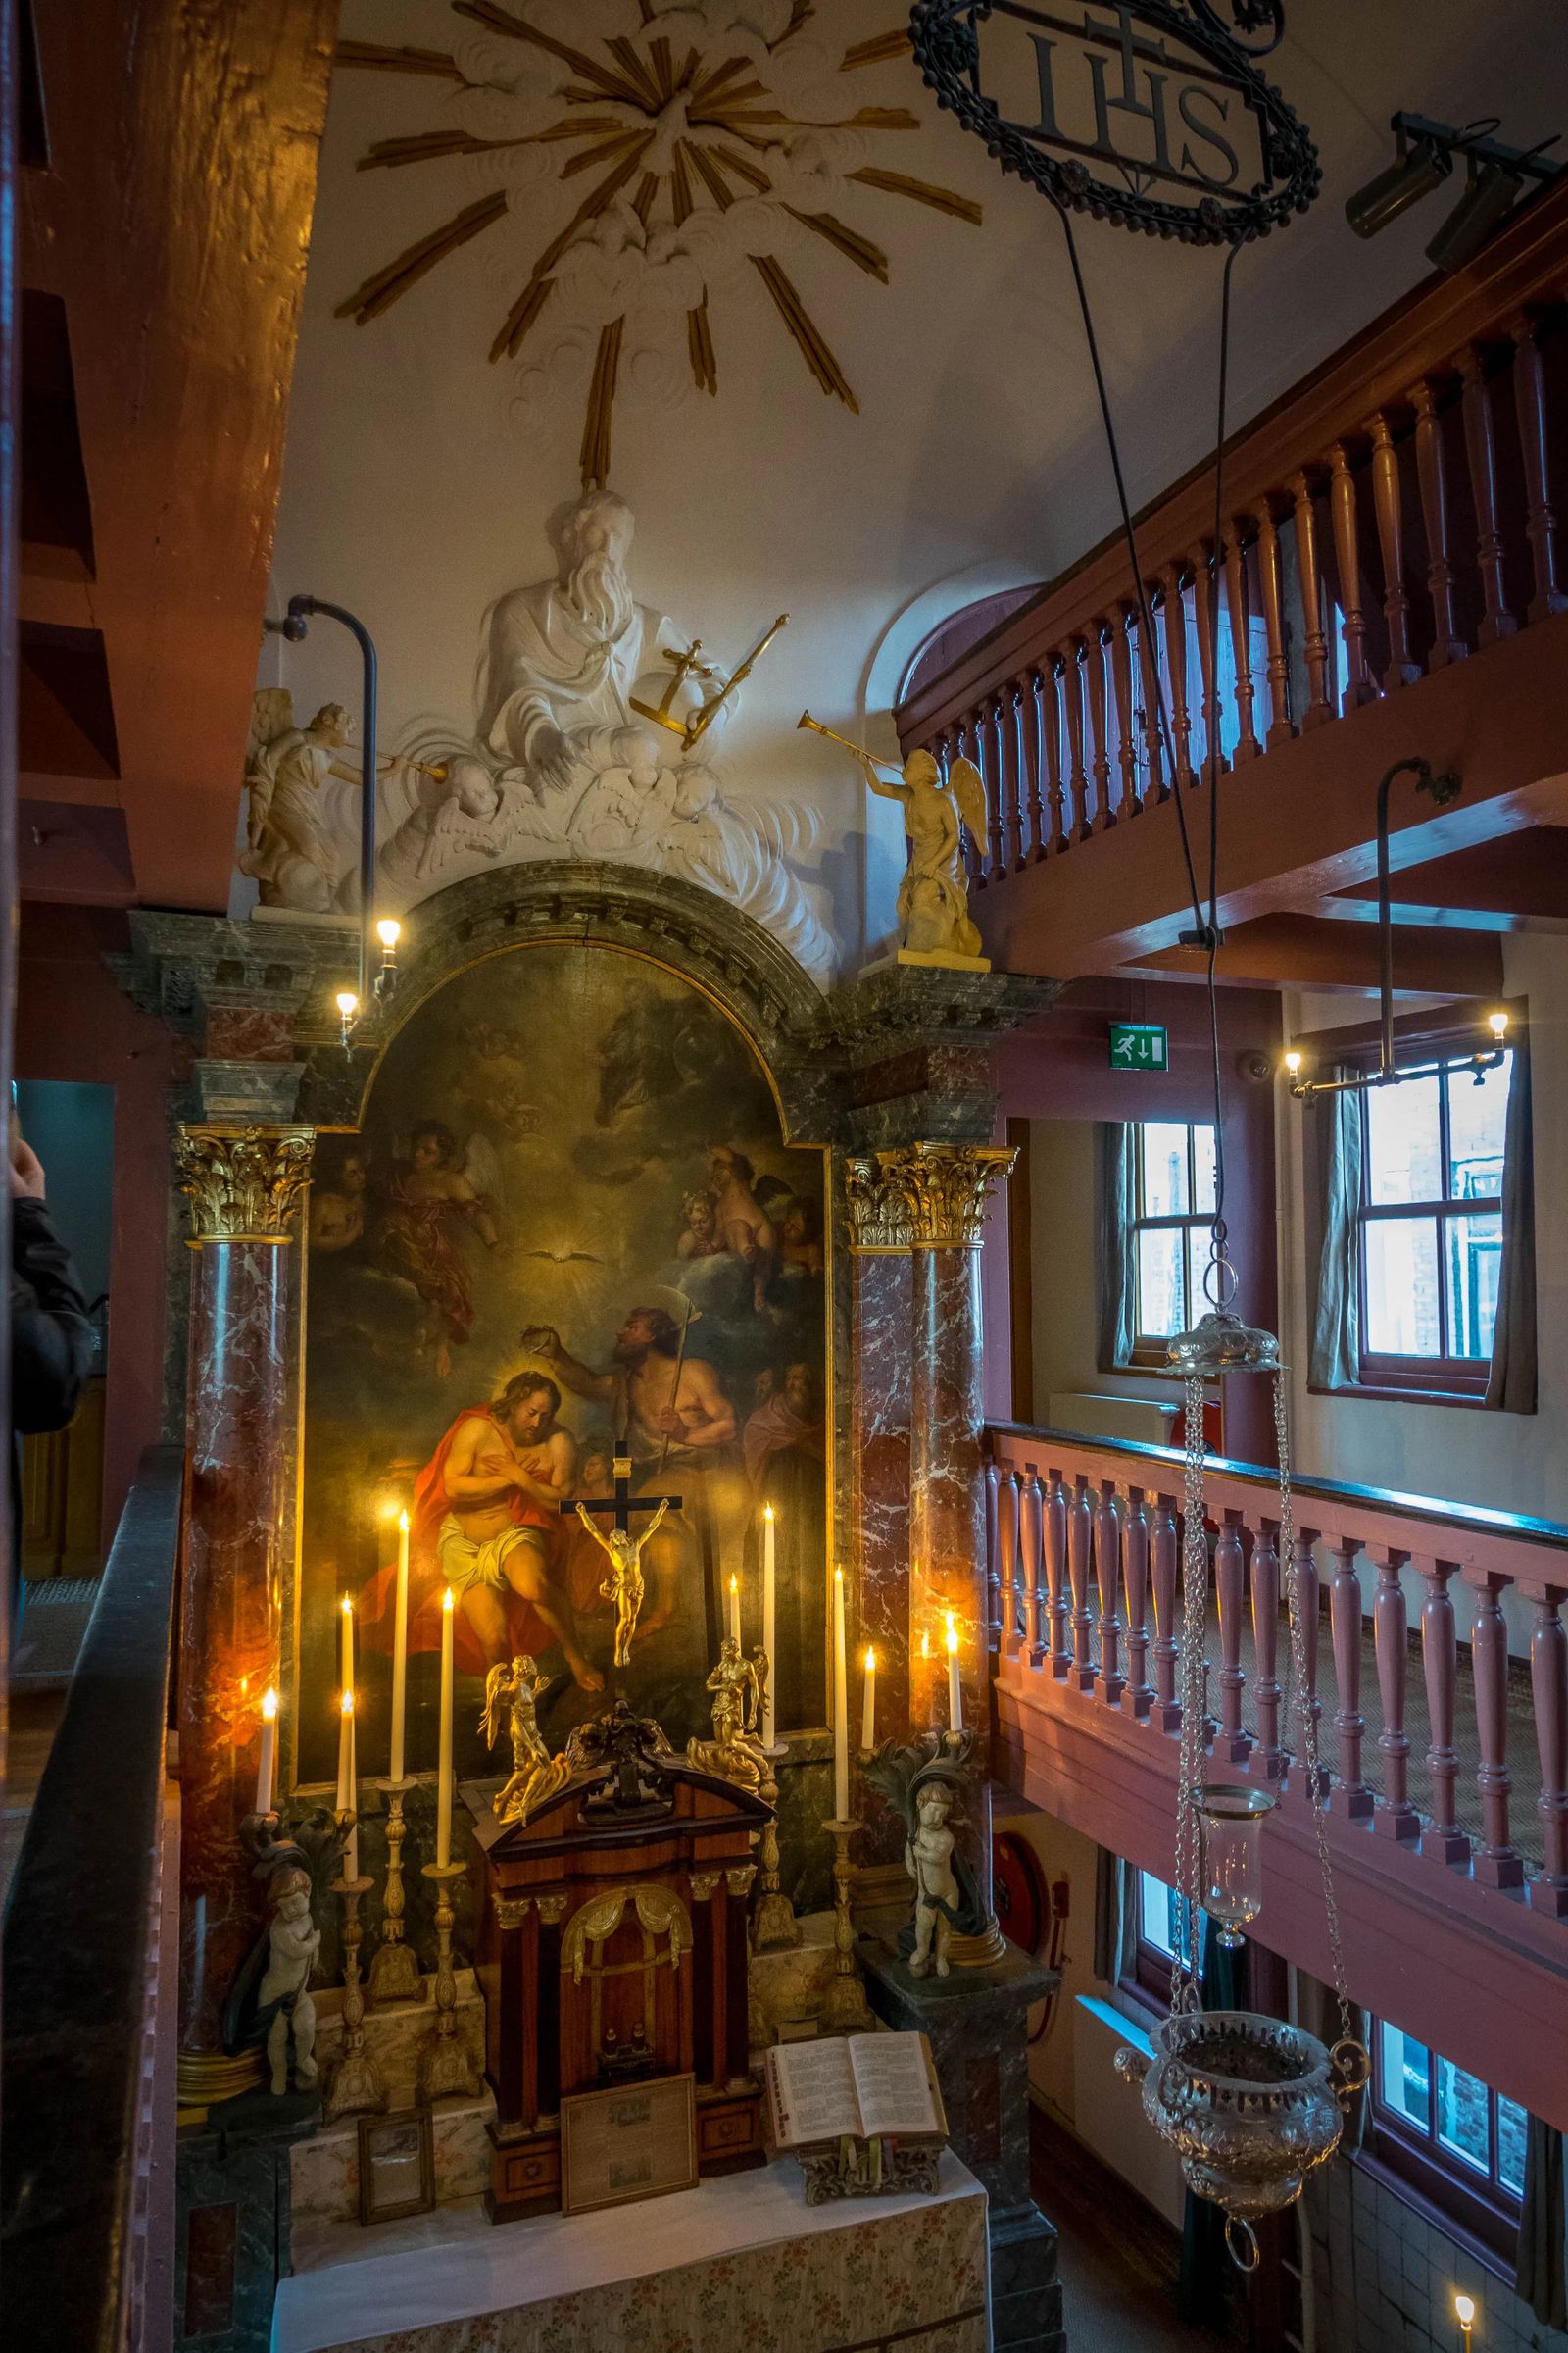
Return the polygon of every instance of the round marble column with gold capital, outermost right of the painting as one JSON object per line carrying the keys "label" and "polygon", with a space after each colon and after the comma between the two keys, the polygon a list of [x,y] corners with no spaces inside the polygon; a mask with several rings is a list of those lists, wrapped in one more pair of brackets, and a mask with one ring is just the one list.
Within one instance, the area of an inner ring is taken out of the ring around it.
{"label": "round marble column with gold capital, outermost right of the painting", "polygon": [[[910,1722],[947,1722],[947,1614],[959,1635],[964,1722],[976,1786],[959,1831],[990,1913],[990,1602],[985,1558],[985,1400],[980,1240],[1004,1144],[910,1144],[877,1153],[905,1198],[912,1245],[910,1341]],[[959,1955],[957,1958],[971,1958]],[[987,1955],[973,1955],[994,1958]]]}

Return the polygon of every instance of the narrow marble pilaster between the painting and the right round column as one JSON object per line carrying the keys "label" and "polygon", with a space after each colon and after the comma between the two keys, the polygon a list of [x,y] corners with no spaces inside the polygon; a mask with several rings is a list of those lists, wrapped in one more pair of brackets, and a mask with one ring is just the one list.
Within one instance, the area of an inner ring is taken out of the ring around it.
{"label": "narrow marble pilaster between the painting and the right round column", "polygon": [[[860,1739],[865,1645],[877,1649],[877,1737],[910,1739],[910,1212],[903,1186],[870,1155],[844,1162],[849,1231],[849,1445],[856,1664],[849,1729]],[[903,1826],[860,1807],[860,1864],[903,1873]]]}

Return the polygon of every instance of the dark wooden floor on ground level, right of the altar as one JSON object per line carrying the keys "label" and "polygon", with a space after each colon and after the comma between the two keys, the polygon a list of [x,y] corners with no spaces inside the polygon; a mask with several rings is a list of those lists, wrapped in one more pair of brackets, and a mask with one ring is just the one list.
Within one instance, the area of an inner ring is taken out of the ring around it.
{"label": "dark wooden floor on ground level, right of the altar", "polygon": [[1060,2240],[1070,2353],[1229,2353],[1246,2344],[1175,2318],[1175,2231],[1039,2108],[1030,2115],[1030,2172],[1034,2202]]}

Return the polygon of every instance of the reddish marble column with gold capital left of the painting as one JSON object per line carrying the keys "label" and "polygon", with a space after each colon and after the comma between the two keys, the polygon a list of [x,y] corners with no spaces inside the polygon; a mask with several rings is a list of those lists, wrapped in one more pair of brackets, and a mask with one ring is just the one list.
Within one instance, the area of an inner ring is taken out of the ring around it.
{"label": "reddish marble column with gold capital left of the painting", "polygon": [[174,1139],[193,1228],[176,1718],[183,2108],[256,2075],[249,2059],[223,2059],[221,2009],[259,1925],[240,1821],[256,1798],[261,1694],[282,1682],[287,1252],[310,1146],[308,1127],[219,1120]]}

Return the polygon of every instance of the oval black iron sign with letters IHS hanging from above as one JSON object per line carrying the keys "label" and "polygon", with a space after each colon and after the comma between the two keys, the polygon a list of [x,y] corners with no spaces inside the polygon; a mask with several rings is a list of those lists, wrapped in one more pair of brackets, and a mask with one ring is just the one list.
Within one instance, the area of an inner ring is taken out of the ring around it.
{"label": "oval black iron sign with letters IHS hanging from above", "polygon": [[1239,245],[1319,191],[1305,125],[1208,0],[914,0],[910,33],[938,104],[1072,212]]}

